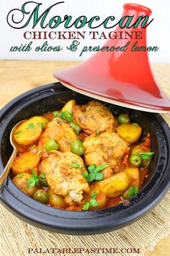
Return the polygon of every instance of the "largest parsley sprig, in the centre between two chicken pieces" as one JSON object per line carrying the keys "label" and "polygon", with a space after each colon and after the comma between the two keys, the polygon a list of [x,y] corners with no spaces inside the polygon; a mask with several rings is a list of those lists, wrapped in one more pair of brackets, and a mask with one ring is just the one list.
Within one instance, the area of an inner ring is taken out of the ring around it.
{"label": "largest parsley sprig, in the centre between two chicken pieces", "polygon": [[103,174],[101,174],[99,171],[104,170],[104,168],[107,168],[107,164],[103,164],[102,166],[96,166],[95,164],[91,164],[87,169],[89,171],[89,174],[86,175],[86,181],[87,182],[93,182],[94,180],[99,182],[104,179]]}

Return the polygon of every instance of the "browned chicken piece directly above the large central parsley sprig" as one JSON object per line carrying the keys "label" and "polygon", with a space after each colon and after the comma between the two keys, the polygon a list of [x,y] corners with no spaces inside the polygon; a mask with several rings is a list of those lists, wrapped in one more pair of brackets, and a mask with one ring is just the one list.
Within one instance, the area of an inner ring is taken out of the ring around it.
{"label": "browned chicken piece directly above the large central parsley sprig", "polygon": [[125,153],[128,153],[128,143],[115,132],[103,132],[96,135],[90,135],[84,140],[84,160],[86,166],[96,164],[109,165],[102,171],[104,179],[112,176],[120,170],[121,160]]}

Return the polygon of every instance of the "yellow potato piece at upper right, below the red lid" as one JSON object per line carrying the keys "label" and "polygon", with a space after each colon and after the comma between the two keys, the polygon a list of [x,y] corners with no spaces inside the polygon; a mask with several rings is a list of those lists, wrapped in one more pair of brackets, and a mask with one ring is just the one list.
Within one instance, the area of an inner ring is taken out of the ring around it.
{"label": "yellow potato piece at upper right, below the red lid", "polygon": [[135,124],[121,124],[117,128],[117,134],[129,143],[136,142],[141,135],[142,128]]}

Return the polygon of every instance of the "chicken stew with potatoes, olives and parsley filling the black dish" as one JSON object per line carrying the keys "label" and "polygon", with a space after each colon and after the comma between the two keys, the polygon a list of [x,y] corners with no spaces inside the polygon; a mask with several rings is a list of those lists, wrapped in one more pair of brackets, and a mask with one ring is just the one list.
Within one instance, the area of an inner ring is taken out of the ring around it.
{"label": "chicken stew with potatoes, olives and parsley filling the black dish", "polygon": [[33,116],[14,134],[12,181],[38,202],[63,210],[128,204],[154,154],[149,133],[133,121],[99,101],[80,106],[70,100],[60,111]]}

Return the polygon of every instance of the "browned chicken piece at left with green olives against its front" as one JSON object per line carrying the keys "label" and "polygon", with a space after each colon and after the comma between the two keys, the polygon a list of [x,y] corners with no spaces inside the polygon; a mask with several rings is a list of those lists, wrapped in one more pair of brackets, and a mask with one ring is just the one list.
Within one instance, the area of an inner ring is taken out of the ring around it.
{"label": "browned chicken piece at left with green olives against its front", "polygon": [[49,139],[56,140],[59,144],[59,150],[66,152],[71,151],[71,142],[78,140],[78,137],[73,128],[69,127],[69,124],[66,124],[60,118],[56,118],[48,123],[47,128],[42,133],[37,150],[45,151],[45,145]]}

